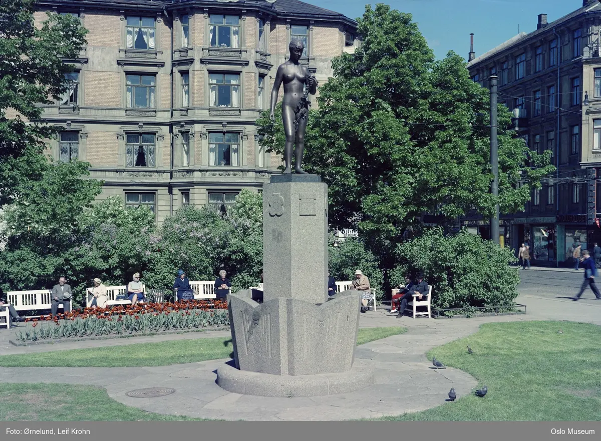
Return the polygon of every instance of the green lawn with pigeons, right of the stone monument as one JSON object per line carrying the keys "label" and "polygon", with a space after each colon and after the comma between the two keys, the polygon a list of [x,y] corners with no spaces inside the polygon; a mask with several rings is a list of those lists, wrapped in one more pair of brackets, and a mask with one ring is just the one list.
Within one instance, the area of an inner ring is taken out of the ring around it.
{"label": "green lawn with pigeons, right of the stone monument", "polygon": [[[563,333],[558,334],[561,329]],[[483,324],[428,353],[488,386],[454,403],[383,420],[600,421],[601,326],[566,321]],[[475,354],[469,355],[466,346]],[[466,391],[458,391],[466,392]]]}

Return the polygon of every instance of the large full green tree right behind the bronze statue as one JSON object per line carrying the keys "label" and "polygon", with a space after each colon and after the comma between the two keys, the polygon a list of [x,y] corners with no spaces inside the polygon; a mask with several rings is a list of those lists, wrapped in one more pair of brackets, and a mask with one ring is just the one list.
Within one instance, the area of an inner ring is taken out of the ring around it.
{"label": "large full green tree right behind the bronze statue", "polygon": [[[456,53],[435,61],[410,14],[367,5],[358,34],[362,46],[332,61],[334,75],[310,112],[305,169],[328,183],[331,225],[358,228],[370,249],[391,256],[424,214],[448,224],[472,206],[492,213],[488,92],[471,81]],[[279,118],[258,125],[263,145],[279,152]],[[515,138],[501,106],[502,212],[523,208],[553,169],[548,154]]]}

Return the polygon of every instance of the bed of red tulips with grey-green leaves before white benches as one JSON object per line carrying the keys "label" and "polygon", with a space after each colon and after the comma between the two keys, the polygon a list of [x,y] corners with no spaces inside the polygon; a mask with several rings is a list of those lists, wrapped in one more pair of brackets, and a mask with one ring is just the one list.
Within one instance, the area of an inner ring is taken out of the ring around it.
{"label": "bed of red tulips with grey-green leaves before white benches", "polygon": [[229,326],[230,317],[224,300],[185,300],[178,303],[83,308],[56,317],[43,315],[39,320],[34,318],[25,321],[31,323],[31,327],[17,333],[20,341]]}

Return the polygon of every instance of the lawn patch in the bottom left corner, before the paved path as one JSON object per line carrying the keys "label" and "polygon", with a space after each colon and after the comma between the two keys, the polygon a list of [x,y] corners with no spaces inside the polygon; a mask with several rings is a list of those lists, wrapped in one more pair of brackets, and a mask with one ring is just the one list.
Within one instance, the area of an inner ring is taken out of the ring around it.
{"label": "lawn patch in the bottom left corner, before the paved path", "polygon": [[104,389],[45,383],[0,383],[0,421],[190,421],[125,406]]}

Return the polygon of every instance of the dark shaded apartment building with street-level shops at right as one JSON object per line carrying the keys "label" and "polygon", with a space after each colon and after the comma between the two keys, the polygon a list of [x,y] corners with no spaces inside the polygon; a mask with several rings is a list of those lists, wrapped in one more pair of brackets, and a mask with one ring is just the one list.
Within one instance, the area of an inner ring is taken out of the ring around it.
{"label": "dark shaded apartment building with street-level shops at right", "polygon": [[[501,239],[512,248],[528,242],[538,264],[570,261],[574,242],[601,243],[601,4],[566,0],[575,11],[522,32],[475,58],[472,79],[489,87],[499,77],[499,103],[532,150],[551,150],[558,171],[532,192],[523,213],[501,216]],[[532,17],[534,19],[534,17]],[[463,225],[490,236],[489,220],[466,216]]]}

